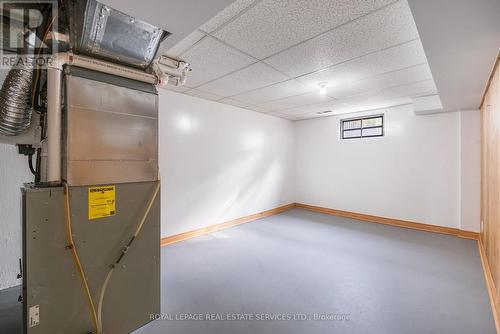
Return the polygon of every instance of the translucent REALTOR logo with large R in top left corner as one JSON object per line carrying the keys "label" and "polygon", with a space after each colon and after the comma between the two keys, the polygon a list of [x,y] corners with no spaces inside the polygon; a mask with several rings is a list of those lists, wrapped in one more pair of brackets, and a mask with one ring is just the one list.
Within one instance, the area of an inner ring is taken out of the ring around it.
{"label": "translucent REALTOR logo with large R in top left corner", "polygon": [[45,67],[56,52],[49,32],[57,31],[57,0],[0,0],[0,68],[33,62]]}

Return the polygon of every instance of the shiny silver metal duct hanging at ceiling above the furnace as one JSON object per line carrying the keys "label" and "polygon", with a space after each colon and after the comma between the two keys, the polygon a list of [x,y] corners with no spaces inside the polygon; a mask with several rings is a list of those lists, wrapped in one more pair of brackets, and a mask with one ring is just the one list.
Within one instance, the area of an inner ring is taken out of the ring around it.
{"label": "shiny silver metal duct hanging at ceiling above the furnace", "polygon": [[70,44],[74,53],[146,69],[168,35],[95,0],[71,2]]}

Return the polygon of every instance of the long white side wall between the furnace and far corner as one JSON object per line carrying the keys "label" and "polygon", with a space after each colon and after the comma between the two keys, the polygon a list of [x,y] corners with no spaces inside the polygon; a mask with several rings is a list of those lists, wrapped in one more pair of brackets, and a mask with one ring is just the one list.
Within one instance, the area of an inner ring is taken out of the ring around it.
{"label": "long white side wall between the furnace and far corner", "polygon": [[163,236],[294,201],[293,122],[160,94]]}

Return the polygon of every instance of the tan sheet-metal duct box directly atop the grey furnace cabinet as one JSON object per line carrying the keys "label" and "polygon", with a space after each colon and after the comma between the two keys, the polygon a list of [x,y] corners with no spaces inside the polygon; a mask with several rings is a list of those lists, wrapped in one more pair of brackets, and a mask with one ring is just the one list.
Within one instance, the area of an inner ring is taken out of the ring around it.
{"label": "tan sheet-metal duct box directly atop the grey furnace cabinet", "polygon": [[69,67],[63,178],[70,186],[158,180],[153,85]]}

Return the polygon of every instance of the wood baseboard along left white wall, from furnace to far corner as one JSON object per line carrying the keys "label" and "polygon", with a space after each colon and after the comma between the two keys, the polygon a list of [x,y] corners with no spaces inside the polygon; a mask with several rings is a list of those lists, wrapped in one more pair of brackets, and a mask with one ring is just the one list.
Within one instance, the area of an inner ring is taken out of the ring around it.
{"label": "wood baseboard along left white wall, from furnace to far corner", "polygon": [[220,231],[220,230],[223,230],[226,228],[230,228],[230,227],[233,227],[236,225],[249,223],[249,222],[257,220],[257,219],[277,215],[279,213],[288,211],[294,207],[295,207],[295,203],[291,203],[291,204],[283,205],[283,206],[280,206],[280,207],[277,207],[274,209],[270,209],[270,210],[254,213],[252,215],[244,216],[241,218],[229,220],[229,221],[224,222],[224,223],[210,225],[210,226],[202,227],[202,228],[199,228],[196,230],[192,230],[192,231],[172,235],[169,237],[165,237],[165,238],[161,239],[161,246],[167,246],[167,245],[173,244],[174,242],[179,242],[179,241],[199,237],[199,236],[204,235],[204,234],[213,233],[213,232]]}

